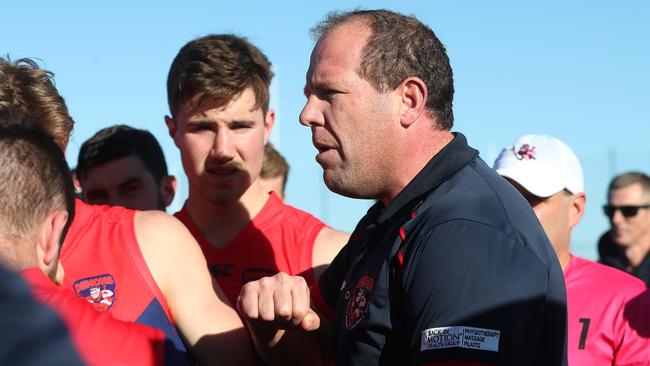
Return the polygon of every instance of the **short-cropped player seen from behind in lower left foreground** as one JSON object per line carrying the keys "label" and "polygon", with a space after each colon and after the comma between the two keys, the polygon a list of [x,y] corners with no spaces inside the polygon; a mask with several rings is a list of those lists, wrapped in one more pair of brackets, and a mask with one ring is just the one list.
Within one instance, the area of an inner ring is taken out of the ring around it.
{"label": "short-cropped player seen from behind in lower left foreground", "polygon": [[[0,181],[0,262],[20,271],[34,297],[61,316],[84,361],[184,364],[161,330],[116,320],[55,283],[63,275],[58,255],[74,217],[75,196],[63,152],[40,126],[0,125]],[[20,363],[23,357],[16,352],[7,361]]]}

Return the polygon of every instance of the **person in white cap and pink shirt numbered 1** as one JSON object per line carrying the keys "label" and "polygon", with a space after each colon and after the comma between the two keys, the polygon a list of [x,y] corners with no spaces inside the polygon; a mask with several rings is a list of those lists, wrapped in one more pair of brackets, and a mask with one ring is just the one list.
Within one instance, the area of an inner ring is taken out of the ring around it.
{"label": "person in white cap and pink shirt numbered 1", "polygon": [[494,169],[528,200],[558,255],[567,291],[569,365],[650,363],[644,283],[570,252],[571,231],[586,204],[573,151],[554,137],[525,135],[501,151]]}

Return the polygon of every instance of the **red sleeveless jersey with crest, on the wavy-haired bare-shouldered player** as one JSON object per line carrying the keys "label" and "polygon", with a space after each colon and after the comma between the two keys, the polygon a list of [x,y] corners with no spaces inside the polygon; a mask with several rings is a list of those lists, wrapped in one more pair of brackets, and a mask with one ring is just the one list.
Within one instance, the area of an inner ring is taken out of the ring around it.
{"label": "red sleeveless jersey with crest, on the wavy-haired bare-shouldered player", "polygon": [[61,248],[63,287],[117,319],[161,329],[179,351],[187,352],[140,251],[135,212],[76,201],[75,217]]}

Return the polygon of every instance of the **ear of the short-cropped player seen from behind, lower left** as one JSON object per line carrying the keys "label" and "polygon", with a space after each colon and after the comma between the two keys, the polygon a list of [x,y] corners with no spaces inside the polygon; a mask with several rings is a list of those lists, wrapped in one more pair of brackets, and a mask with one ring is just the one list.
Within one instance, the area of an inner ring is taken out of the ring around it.
{"label": "ear of the short-cropped player seen from behind, lower left", "polygon": [[68,222],[68,212],[56,210],[47,215],[38,236],[38,265],[47,274],[57,269],[59,249],[63,242],[63,229]]}

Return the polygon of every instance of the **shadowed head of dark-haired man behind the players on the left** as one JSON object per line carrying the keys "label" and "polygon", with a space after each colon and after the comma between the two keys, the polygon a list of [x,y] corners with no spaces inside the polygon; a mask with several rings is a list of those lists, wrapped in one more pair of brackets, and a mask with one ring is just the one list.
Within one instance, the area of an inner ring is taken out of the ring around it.
{"label": "shadowed head of dark-haired man behind the players on the left", "polygon": [[167,173],[156,138],[125,125],[104,128],[86,140],[75,173],[82,199],[95,205],[165,211],[176,192],[176,178]]}

